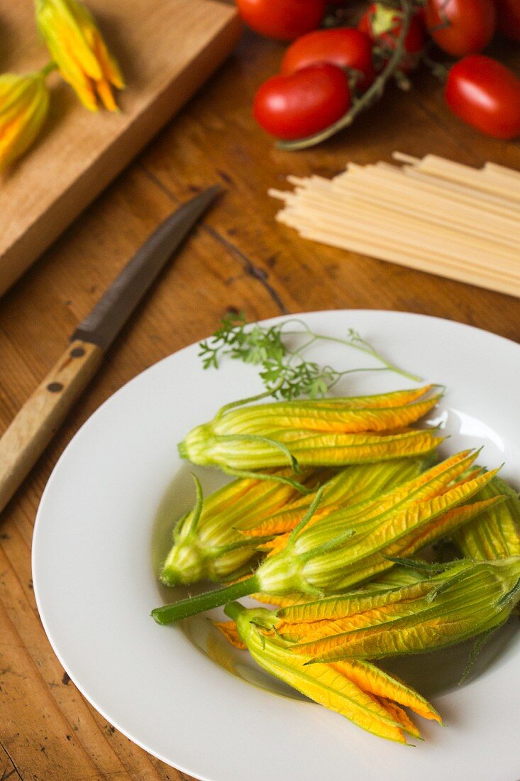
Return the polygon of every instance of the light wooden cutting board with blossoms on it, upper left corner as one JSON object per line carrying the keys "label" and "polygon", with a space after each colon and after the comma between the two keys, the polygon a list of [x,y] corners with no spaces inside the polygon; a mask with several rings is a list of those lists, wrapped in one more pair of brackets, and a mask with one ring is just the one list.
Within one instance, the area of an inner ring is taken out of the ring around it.
{"label": "light wooden cutting board with blossoms on it, upper left corner", "polygon": [[[122,110],[88,112],[57,73],[48,78],[52,97],[44,130],[0,175],[0,294],[193,95],[240,35],[233,7],[216,0],[87,5],[126,78],[126,90],[117,96]],[[2,72],[25,73],[48,62],[32,2],[2,4],[0,30]]]}

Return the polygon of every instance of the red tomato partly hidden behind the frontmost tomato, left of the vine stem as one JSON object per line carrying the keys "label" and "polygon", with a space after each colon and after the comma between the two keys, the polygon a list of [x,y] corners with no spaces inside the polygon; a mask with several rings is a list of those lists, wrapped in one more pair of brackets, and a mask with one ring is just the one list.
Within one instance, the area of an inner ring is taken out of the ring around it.
{"label": "red tomato partly hidden behind the frontmost tomato, left of the vine stem", "polygon": [[361,91],[365,91],[376,77],[372,63],[372,41],[355,27],[315,30],[302,35],[285,52],[282,73],[295,73],[317,62],[332,62],[339,68],[358,70],[362,77],[356,86]]}

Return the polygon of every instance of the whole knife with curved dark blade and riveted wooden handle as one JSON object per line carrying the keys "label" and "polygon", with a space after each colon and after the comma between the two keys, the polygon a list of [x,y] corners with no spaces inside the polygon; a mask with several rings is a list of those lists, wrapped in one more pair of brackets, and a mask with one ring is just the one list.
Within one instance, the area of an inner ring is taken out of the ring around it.
{"label": "whole knife with curved dark blade and riveted wooden handle", "polygon": [[45,450],[173,252],[215,200],[209,187],[167,217],[77,327],[69,348],[0,438],[0,512]]}

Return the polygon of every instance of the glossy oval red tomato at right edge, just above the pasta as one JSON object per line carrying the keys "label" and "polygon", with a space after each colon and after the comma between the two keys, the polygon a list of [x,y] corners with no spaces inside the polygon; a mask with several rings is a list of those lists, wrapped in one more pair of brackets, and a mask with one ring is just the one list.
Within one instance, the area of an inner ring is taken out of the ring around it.
{"label": "glossy oval red tomato at right edge, just above the pasta", "polygon": [[495,138],[520,135],[520,79],[501,62],[470,55],[447,77],[447,105],[465,122]]}

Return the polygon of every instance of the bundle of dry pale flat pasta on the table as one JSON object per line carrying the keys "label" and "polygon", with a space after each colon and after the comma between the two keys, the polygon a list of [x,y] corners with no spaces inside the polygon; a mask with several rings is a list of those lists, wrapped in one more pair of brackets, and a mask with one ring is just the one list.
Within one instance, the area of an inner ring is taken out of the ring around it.
{"label": "bundle of dry pale flat pasta on the table", "polygon": [[332,180],[269,190],[301,236],[520,297],[520,172],[394,152],[401,165],[348,163]]}

